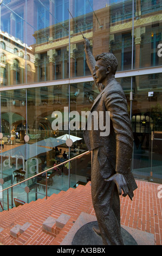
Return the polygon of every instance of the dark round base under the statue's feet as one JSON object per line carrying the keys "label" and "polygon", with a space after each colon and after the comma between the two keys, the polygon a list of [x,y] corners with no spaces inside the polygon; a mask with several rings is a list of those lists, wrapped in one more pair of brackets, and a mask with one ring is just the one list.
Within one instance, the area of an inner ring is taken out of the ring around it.
{"label": "dark round base under the statue's feet", "polygon": [[[72,245],[103,245],[102,237],[95,233],[93,230],[99,229],[98,222],[93,221],[83,225],[77,230],[74,235]],[[124,241],[124,245],[137,245],[133,236],[130,235],[124,228],[121,228],[121,235]]]}

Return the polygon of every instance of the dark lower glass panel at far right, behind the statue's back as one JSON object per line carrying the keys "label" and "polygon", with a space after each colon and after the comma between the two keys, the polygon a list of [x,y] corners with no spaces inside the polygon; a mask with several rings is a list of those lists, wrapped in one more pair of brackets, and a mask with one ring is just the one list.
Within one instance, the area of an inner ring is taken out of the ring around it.
{"label": "dark lower glass panel at far right, behind the statue's back", "polygon": [[[161,73],[137,76],[133,83],[133,173],[141,178],[145,176],[148,179],[152,175],[156,178],[161,176],[161,93],[159,92],[161,86]],[[153,144],[152,132],[155,132],[154,138],[156,138]]]}

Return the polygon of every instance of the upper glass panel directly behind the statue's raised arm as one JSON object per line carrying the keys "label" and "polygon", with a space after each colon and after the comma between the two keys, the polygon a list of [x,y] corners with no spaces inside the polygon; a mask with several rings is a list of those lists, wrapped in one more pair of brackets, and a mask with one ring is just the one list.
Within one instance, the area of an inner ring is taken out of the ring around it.
{"label": "upper glass panel directly behind the statue's raised arm", "polygon": [[[109,16],[106,1],[95,3],[91,0],[74,1],[70,6],[70,76],[89,76],[85,52],[83,47],[84,35],[90,41],[93,55],[108,51],[107,23]],[[99,10],[98,10],[99,9]],[[104,23],[104,26],[103,26]]]}

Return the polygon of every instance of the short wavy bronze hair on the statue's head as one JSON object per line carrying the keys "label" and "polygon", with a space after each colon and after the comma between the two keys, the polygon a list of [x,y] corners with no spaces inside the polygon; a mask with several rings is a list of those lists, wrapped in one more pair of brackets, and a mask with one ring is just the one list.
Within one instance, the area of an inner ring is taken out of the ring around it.
{"label": "short wavy bronze hair on the statue's head", "polygon": [[116,70],[118,68],[118,60],[111,52],[103,52],[97,56],[95,56],[95,60],[98,61],[99,59],[103,60],[103,64],[106,66],[111,67],[111,72],[113,75],[115,75]]}

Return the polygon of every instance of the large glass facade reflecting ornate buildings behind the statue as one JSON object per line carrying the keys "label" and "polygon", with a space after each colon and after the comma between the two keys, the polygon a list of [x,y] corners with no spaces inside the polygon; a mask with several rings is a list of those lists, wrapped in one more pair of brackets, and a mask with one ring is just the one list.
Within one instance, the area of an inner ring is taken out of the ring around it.
{"label": "large glass facade reflecting ornate buildings behind the statue", "polygon": [[[124,89],[134,133],[134,176],[161,181],[162,0],[1,2],[2,188],[18,182],[15,170],[30,178],[63,162],[64,151],[70,159],[87,150],[81,112],[90,110],[99,91],[86,63],[82,34],[94,56],[109,51],[118,59],[116,80]],[[74,136],[71,147],[65,135]],[[48,195],[90,180],[90,161],[89,153],[55,170]],[[23,192],[24,186],[30,193]],[[25,202],[44,197],[43,177],[9,193],[10,206],[14,197]],[[5,204],[6,198],[4,191],[0,200]]]}

